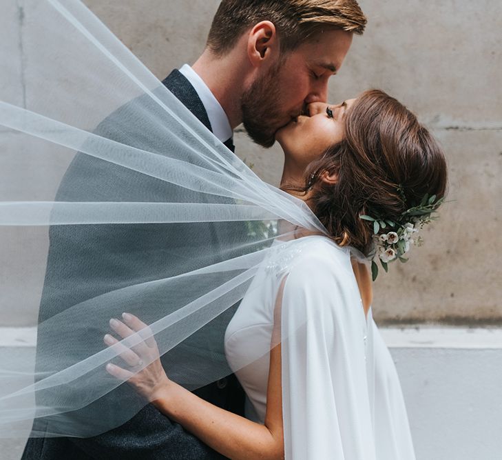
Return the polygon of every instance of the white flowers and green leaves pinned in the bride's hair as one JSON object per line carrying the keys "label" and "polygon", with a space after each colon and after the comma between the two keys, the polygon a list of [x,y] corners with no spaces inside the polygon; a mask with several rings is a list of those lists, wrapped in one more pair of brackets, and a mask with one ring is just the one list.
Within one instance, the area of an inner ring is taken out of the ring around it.
{"label": "white flowers and green leaves pinned in the bride's hair", "polygon": [[[443,203],[444,197],[436,200],[436,195],[429,197],[426,194],[418,206],[410,208],[403,212],[399,219],[393,221],[383,217],[371,217],[368,215],[359,216],[365,221],[373,222],[373,243],[374,250],[370,255],[371,274],[373,281],[378,276],[377,261],[380,261],[382,268],[387,272],[388,263],[399,259],[401,262],[407,262],[404,254],[410,250],[410,245],[421,246],[423,240],[421,237],[412,238],[426,223],[439,219],[432,216],[437,212],[437,208]],[[388,232],[381,232],[386,228],[392,229]]]}

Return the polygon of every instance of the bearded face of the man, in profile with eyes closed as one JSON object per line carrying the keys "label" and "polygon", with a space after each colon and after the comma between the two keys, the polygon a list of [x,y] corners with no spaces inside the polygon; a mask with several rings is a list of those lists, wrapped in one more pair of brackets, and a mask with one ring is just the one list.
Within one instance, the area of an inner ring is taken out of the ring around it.
{"label": "bearded face of the man, in profile with eyes closed", "polygon": [[328,79],[342,66],[351,43],[350,32],[326,30],[264,69],[242,95],[242,123],[249,137],[271,147],[275,132],[306,113],[309,103],[325,102]]}

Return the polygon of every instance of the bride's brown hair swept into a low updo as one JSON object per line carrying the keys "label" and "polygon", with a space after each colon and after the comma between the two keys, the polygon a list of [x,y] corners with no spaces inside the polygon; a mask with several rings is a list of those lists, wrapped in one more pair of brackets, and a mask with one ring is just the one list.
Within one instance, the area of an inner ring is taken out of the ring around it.
{"label": "bride's brown hair swept into a low updo", "polygon": [[[337,174],[328,184],[320,174]],[[446,160],[417,117],[379,90],[362,93],[345,117],[345,139],[307,170],[309,205],[339,246],[368,255],[373,225],[359,216],[399,221],[425,194],[443,197]]]}

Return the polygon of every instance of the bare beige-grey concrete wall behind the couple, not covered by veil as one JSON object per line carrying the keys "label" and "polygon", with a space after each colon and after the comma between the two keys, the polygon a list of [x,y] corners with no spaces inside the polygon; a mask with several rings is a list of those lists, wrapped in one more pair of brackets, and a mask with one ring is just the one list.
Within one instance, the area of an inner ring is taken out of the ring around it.
{"label": "bare beige-grey concrete wall behind the couple, not covered by veil", "polygon": [[[163,78],[193,63],[218,0],[86,0],[118,37]],[[339,76],[333,102],[381,88],[435,132],[450,165],[451,203],[423,231],[425,246],[379,277],[380,323],[502,323],[502,3],[494,0],[362,0],[368,17]],[[278,183],[282,154],[236,136],[237,152]]]}

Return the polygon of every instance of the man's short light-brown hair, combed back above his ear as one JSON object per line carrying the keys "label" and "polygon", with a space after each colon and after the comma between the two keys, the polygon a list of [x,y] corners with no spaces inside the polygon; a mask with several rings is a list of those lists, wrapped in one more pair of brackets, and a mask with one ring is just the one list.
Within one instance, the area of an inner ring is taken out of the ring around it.
{"label": "man's short light-brown hair, combed back above his ear", "polygon": [[362,34],[366,17],[356,0],[222,0],[215,14],[207,47],[222,56],[239,37],[260,21],[271,21],[278,32],[281,52],[326,29]]}

